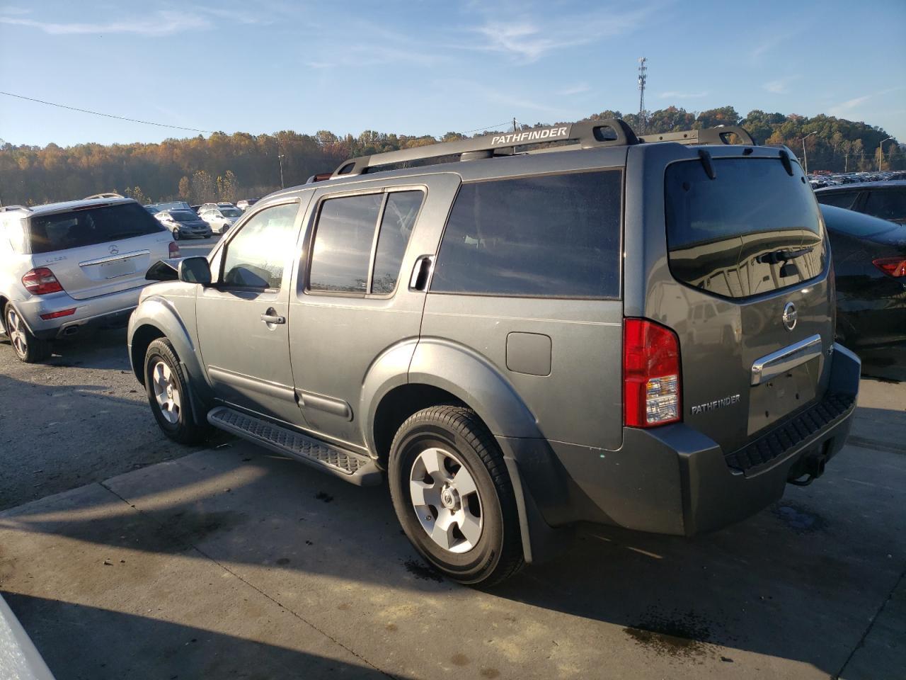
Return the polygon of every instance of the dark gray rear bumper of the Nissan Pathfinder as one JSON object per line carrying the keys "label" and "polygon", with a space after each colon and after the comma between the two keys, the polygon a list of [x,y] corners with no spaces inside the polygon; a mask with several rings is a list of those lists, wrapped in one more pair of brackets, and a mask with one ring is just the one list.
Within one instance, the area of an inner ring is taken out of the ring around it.
{"label": "dark gray rear bumper of the Nissan Pathfinder", "polygon": [[785,438],[783,431],[792,421],[780,423],[759,438],[773,437],[773,451],[761,447],[757,459],[748,452],[752,457],[745,465],[734,457],[741,452],[726,454],[684,423],[625,428],[622,448],[614,452],[537,440],[501,443],[505,455],[518,463],[525,492],[550,526],[585,520],[693,536],[745,520],[781,498],[806,456],[829,460],[839,452],[852,425],[859,374],[858,357],[834,345],[824,401],[834,399],[836,407],[825,410],[824,419],[810,420],[813,424],[799,437]]}

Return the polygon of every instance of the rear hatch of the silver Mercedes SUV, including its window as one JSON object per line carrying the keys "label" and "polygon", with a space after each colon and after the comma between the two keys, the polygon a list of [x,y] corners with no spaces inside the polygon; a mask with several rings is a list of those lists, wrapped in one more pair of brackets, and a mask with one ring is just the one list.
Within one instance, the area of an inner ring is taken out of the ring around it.
{"label": "rear hatch of the silver Mercedes SUV, including its window", "polygon": [[144,286],[145,272],[170,257],[169,231],[138,203],[91,204],[28,220],[34,267],[48,267],[73,299]]}

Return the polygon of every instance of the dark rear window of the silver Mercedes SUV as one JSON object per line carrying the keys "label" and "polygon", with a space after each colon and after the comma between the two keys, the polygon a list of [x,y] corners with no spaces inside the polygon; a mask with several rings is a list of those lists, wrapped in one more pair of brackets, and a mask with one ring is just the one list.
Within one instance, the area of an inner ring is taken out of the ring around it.
{"label": "dark rear window of the silver Mercedes SUV", "polygon": [[50,253],[166,230],[138,203],[120,203],[36,216],[29,220],[28,235],[32,253]]}

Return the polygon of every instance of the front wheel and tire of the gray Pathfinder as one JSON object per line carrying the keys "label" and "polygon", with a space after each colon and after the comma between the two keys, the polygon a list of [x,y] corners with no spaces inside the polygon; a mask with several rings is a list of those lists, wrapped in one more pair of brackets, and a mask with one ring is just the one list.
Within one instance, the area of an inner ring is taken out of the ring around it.
{"label": "front wheel and tire of the gray Pathfinder", "polygon": [[145,391],[154,419],[170,439],[180,444],[205,440],[209,428],[192,418],[188,380],[166,338],[152,342],[145,353]]}

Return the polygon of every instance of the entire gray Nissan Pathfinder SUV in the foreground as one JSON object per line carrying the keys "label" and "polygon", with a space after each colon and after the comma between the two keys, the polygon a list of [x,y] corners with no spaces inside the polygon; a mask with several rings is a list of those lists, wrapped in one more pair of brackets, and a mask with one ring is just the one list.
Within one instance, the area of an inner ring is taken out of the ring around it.
{"label": "entire gray Nissan Pathfinder SUV in the foreground", "polygon": [[785,148],[593,121],[322,178],[149,272],[130,357],[172,439],[386,476],[415,548],[473,584],[580,520],[743,520],[843,446],[860,365]]}

